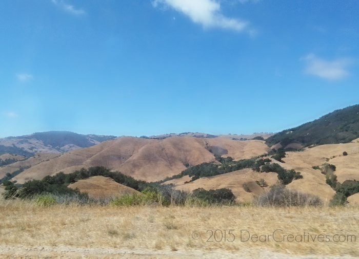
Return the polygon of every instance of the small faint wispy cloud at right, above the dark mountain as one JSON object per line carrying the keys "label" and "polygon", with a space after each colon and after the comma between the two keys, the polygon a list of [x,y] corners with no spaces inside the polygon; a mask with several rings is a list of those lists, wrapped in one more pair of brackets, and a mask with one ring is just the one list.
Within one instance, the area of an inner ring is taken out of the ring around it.
{"label": "small faint wispy cloud at right, above the dark mountain", "polygon": [[314,54],[302,58],[306,61],[305,72],[328,80],[338,80],[349,75],[348,67],[352,64],[349,58],[337,58],[331,61],[321,59]]}

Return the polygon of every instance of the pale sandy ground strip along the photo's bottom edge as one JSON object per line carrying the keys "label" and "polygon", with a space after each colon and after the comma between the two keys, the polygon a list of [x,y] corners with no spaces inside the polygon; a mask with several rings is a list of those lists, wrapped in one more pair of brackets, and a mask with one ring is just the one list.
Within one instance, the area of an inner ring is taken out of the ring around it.
{"label": "pale sandy ground strip along the photo's bottom edge", "polygon": [[229,252],[221,249],[213,251],[203,250],[149,250],[149,249],[114,249],[114,248],[81,248],[81,247],[25,247],[0,245],[2,258],[357,258],[348,255],[293,255],[272,252],[266,249],[244,249]]}

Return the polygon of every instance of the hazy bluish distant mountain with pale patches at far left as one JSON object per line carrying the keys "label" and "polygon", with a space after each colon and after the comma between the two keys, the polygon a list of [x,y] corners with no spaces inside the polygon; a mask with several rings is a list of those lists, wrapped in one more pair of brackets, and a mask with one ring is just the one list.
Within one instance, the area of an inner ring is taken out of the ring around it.
{"label": "hazy bluish distant mountain with pale patches at far left", "polygon": [[64,153],[90,147],[115,136],[82,135],[66,131],[38,132],[19,137],[0,138],[0,155],[15,154],[30,157],[35,153]]}

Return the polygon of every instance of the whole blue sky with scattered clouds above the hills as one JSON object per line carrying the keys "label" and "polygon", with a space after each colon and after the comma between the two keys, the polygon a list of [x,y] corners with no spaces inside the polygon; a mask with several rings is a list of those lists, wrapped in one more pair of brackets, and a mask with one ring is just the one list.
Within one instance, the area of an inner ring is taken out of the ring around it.
{"label": "whole blue sky with scattered clouds above the hills", "polygon": [[277,132],[359,103],[359,3],[3,0],[0,137]]}

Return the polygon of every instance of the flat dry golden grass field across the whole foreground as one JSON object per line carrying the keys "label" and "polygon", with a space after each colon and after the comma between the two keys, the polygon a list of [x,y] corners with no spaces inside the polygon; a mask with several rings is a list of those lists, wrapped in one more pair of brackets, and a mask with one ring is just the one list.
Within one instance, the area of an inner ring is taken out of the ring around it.
{"label": "flat dry golden grass field across the whole foreground", "polygon": [[40,207],[0,200],[0,257],[357,257],[358,214],[358,207]]}

